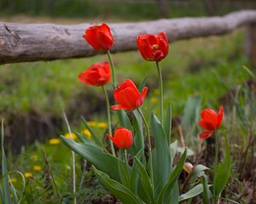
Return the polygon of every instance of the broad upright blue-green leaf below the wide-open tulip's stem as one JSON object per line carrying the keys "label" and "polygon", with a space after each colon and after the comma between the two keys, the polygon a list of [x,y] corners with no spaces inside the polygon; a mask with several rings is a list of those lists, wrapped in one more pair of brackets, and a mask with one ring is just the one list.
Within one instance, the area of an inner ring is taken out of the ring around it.
{"label": "broad upright blue-green leaf below the wide-open tulip's stem", "polygon": [[171,173],[171,152],[169,144],[166,139],[166,132],[161,125],[160,121],[154,114],[151,115],[150,120],[151,128],[154,135],[154,153],[153,159],[153,173],[154,173],[154,189],[156,196],[166,184]]}

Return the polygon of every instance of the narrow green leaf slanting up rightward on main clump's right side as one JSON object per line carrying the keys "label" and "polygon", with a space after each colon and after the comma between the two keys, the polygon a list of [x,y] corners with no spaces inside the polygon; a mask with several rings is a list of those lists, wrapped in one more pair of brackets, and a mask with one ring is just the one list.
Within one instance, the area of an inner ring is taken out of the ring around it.
{"label": "narrow green leaf slanting up rightward on main clump's right side", "polygon": [[165,184],[164,188],[160,191],[160,195],[158,196],[157,202],[156,202],[157,204],[171,203],[168,199],[166,199],[166,197],[168,198],[169,192],[172,191],[173,186],[177,181],[179,174],[183,170],[183,165],[186,161],[186,158],[187,158],[187,150],[184,150],[183,156],[181,156],[180,160],[177,162],[177,166],[173,169],[170,177],[167,180],[167,183]]}

